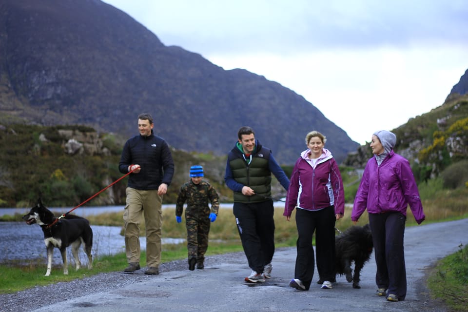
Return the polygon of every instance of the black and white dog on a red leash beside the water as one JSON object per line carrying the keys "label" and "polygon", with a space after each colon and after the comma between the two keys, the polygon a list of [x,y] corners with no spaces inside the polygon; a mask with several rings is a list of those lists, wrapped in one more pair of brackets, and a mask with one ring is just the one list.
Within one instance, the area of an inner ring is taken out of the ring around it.
{"label": "black and white dog on a red leash beside the water", "polygon": [[49,276],[52,271],[52,255],[54,247],[59,248],[63,261],[63,274],[68,274],[67,247],[72,246],[72,254],[75,258],[77,270],[81,267],[79,261],[79,247],[83,244],[83,250],[88,256],[88,269],[93,268],[91,248],[93,247],[93,230],[89,221],[76,215],[66,215],[57,220],[57,217],[42,205],[39,199],[36,206],[23,216],[23,220],[31,225],[37,223],[44,232],[44,243],[47,248],[47,272]]}

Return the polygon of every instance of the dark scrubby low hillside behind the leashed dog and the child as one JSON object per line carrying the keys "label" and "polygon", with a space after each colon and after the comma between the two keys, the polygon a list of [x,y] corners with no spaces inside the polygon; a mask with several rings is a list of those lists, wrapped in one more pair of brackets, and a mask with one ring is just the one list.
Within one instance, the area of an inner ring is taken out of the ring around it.
{"label": "dark scrubby low hillside behind the leashed dog and the child", "polygon": [[[95,133],[84,126],[12,124],[0,127],[0,207],[29,207],[42,197],[49,207],[75,206],[123,176],[118,161],[124,140],[115,135],[99,135],[100,150],[69,154],[67,138],[61,130]],[[102,146],[101,146],[102,144]],[[176,175],[166,202],[175,202],[178,187],[188,180],[192,164],[206,166],[206,178],[224,201],[232,197],[223,185],[224,158],[173,150]],[[100,206],[123,204],[127,178],[89,202]]]}

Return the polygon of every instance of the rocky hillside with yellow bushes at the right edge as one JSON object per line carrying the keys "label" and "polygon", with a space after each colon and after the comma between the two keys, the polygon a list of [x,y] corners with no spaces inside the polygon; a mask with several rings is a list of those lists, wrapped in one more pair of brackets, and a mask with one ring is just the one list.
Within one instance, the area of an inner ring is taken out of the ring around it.
{"label": "rocky hillside with yellow bushes at the right edge", "polygon": [[[397,137],[395,151],[409,160],[418,181],[437,177],[455,163],[460,168],[465,166],[462,163],[468,159],[468,90],[462,88],[466,78],[465,73],[444,104],[391,130]],[[362,145],[343,164],[364,168],[371,156],[369,144]],[[465,172],[468,174],[467,169],[456,173],[462,183],[468,183]]]}

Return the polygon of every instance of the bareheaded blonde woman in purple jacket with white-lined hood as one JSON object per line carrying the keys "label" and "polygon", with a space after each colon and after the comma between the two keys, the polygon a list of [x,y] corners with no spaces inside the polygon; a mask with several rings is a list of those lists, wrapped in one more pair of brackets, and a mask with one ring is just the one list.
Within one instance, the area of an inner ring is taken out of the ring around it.
{"label": "bareheaded blonde woman in purple jacket with white-lined hood", "polygon": [[309,290],[314,270],[312,235],[315,230],[319,284],[331,289],[335,280],[335,221],[343,217],[343,180],[329,150],[326,138],[317,131],[306,136],[307,150],[297,159],[286,196],[284,216],[288,221],[296,209],[297,256],[294,278],[289,285]]}

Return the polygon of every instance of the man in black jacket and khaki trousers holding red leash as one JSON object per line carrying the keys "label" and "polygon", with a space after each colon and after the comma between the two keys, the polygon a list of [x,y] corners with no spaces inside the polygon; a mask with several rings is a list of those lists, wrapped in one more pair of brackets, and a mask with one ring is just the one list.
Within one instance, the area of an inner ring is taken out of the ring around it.
{"label": "man in black jacket and khaki trousers holding red leash", "polygon": [[128,267],[124,272],[140,269],[139,222],[141,214],[146,225],[145,274],[159,274],[161,262],[162,196],[174,176],[174,161],[166,141],[153,134],[153,117],[138,116],[139,135],[127,140],[123,147],[118,169],[132,172],[126,189],[127,203],[123,213],[125,227],[125,253]]}

